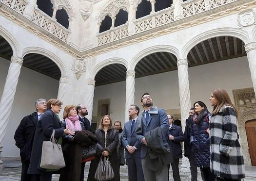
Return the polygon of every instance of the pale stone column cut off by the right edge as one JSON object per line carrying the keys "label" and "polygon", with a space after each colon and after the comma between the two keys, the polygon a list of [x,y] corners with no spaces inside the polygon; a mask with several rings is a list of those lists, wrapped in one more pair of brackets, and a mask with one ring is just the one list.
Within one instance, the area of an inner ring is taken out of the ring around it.
{"label": "pale stone column cut off by the right edge", "polygon": [[256,93],[256,42],[248,43],[244,46],[244,48],[247,53],[254,92]]}

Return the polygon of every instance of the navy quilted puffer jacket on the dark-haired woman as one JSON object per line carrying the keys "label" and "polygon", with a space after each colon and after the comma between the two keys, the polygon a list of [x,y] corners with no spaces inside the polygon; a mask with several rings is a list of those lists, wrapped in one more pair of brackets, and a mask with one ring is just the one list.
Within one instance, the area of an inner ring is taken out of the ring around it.
{"label": "navy quilted puffer jacket on the dark-haired woman", "polygon": [[192,121],[190,141],[195,151],[197,166],[210,167],[210,138],[205,131],[207,128],[209,128],[209,122],[207,121],[206,117],[209,117],[210,114],[208,112],[202,114],[204,115],[201,124],[198,125]]}

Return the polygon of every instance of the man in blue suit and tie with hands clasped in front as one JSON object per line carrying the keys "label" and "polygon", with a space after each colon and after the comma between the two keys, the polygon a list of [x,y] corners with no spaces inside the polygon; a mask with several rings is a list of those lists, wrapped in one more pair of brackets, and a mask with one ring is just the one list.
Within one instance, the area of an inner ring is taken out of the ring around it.
{"label": "man in blue suit and tie with hands clasped in front", "polygon": [[140,147],[141,144],[136,139],[136,126],[139,107],[131,105],[128,109],[130,120],[124,124],[122,132],[122,143],[125,148],[125,159],[128,166],[129,181],[144,181],[142,171]]}

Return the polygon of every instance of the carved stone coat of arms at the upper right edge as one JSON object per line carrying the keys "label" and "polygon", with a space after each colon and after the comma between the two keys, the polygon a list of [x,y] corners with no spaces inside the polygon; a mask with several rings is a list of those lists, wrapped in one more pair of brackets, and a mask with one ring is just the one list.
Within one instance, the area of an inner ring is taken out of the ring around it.
{"label": "carved stone coat of arms at the upper right edge", "polygon": [[252,9],[245,10],[237,16],[238,27],[246,27],[256,24],[256,12]]}

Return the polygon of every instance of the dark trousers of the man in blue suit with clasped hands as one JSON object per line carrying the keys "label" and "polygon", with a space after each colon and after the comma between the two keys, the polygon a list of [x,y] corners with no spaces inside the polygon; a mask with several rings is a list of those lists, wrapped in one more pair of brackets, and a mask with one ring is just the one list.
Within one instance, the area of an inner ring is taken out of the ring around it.
{"label": "dark trousers of the man in blue suit with clasped hands", "polygon": [[144,174],[141,165],[141,158],[132,155],[126,159],[129,181],[144,181]]}

